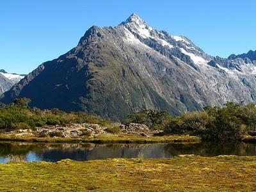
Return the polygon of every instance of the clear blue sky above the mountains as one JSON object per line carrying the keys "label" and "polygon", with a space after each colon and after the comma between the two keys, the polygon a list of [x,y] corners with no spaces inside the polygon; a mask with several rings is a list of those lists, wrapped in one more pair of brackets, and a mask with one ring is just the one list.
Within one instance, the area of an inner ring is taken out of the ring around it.
{"label": "clear blue sky above the mountains", "polygon": [[26,74],[77,45],[92,25],[116,26],[136,12],[156,29],[184,35],[213,56],[256,49],[255,0],[6,0],[0,2],[0,68]]}

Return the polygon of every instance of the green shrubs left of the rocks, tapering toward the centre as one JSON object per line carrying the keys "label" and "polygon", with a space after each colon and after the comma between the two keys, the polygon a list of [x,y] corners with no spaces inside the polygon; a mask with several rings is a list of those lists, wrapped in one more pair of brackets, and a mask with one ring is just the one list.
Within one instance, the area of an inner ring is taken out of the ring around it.
{"label": "green shrubs left of the rocks, tapering toward the centre", "polygon": [[108,127],[109,120],[78,112],[65,113],[59,109],[41,110],[28,107],[29,99],[15,99],[10,105],[0,108],[0,129],[35,129],[44,125],[100,124]]}

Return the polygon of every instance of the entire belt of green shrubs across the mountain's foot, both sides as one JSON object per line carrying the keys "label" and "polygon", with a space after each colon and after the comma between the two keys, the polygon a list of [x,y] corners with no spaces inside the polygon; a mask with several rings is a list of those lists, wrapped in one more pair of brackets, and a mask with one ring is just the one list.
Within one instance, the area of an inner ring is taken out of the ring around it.
{"label": "entire belt of green shrubs across the mountain's foot, both sides", "polygon": [[[29,99],[21,98],[15,99],[10,105],[1,105],[0,129],[35,129],[45,125],[88,123],[105,126],[106,132],[110,134],[121,134],[119,125],[97,115],[29,108],[29,102]],[[162,136],[188,134],[202,140],[242,140],[248,134],[256,135],[256,107],[252,103],[244,105],[228,102],[223,107],[207,107],[202,111],[175,117],[166,111],[147,109],[127,116],[124,124],[131,123],[145,124],[151,131],[159,131]],[[84,132],[83,136],[90,136],[90,132]],[[52,137],[60,137],[60,132],[52,132]],[[255,139],[249,137],[246,141],[249,140]]]}

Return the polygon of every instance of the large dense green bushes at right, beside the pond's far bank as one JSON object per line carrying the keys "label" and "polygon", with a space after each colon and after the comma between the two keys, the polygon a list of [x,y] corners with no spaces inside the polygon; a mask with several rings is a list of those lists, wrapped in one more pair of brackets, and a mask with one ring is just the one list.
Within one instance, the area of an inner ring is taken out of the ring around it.
{"label": "large dense green bushes at right, beside the pond's far bank", "polygon": [[202,112],[185,113],[164,125],[166,134],[191,134],[204,140],[241,140],[248,131],[255,131],[255,104],[228,102],[223,108],[207,107]]}

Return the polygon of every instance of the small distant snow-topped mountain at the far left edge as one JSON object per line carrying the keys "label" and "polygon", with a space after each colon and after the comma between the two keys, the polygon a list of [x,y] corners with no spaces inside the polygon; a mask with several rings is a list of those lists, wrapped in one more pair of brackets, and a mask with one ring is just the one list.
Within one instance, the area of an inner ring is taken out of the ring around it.
{"label": "small distant snow-topped mountain at the far left edge", "polygon": [[18,83],[20,79],[23,79],[24,75],[8,74],[5,70],[0,70],[0,95],[7,92],[12,88],[13,84]]}

